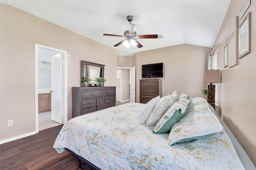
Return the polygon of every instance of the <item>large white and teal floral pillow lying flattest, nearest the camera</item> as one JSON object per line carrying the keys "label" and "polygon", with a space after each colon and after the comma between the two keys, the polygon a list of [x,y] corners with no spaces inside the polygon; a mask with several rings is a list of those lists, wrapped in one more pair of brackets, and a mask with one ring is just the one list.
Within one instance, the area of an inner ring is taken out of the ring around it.
{"label": "large white and teal floral pillow lying flattest, nearest the camera", "polygon": [[172,126],[168,144],[202,139],[222,131],[223,127],[208,104],[198,104]]}

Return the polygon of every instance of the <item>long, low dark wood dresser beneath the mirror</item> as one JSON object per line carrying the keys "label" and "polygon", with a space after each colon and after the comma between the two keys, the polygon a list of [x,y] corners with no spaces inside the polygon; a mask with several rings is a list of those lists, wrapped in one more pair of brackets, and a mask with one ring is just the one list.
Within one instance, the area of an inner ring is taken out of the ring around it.
{"label": "long, low dark wood dresser beneath the mirror", "polygon": [[116,106],[116,87],[72,87],[72,118]]}

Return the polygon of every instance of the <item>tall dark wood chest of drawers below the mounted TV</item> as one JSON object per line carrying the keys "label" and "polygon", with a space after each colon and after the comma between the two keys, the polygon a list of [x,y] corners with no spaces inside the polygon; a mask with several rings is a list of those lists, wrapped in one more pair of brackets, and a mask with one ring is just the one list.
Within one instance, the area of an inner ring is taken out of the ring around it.
{"label": "tall dark wood chest of drawers below the mounted TV", "polygon": [[156,96],[162,97],[161,79],[142,79],[140,80],[140,103],[148,103]]}

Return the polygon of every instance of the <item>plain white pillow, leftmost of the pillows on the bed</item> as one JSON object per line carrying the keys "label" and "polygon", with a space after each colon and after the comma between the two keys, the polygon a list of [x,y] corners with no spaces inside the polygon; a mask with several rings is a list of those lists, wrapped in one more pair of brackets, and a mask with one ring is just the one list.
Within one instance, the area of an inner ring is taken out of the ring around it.
{"label": "plain white pillow, leftmost of the pillows on the bed", "polygon": [[160,96],[157,96],[153,99],[151,99],[147,104],[146,107],[144,108],[144,110],[142,111],[142,113],[140,114],[140,118],[139,118],[139,123],[146,123],[149,114],[151,113],[151,111],[154,109],[154,107],[156,106],[156,104],[160,101]]}

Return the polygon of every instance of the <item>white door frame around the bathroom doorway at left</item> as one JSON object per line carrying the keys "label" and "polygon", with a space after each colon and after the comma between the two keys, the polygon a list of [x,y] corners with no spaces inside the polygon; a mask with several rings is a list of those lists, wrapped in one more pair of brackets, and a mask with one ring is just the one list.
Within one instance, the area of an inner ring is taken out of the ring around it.
{"label": "white door frame around the bathroom doorway at left", "polygon": [[38,48],[62,53],[62,123],[68,121],[67,51],[35,43],[35,132],[38,133]]}

